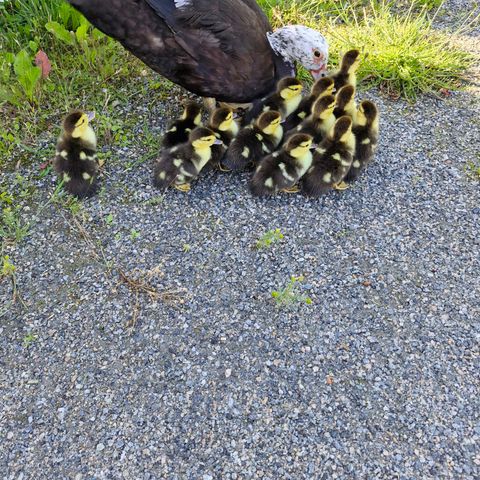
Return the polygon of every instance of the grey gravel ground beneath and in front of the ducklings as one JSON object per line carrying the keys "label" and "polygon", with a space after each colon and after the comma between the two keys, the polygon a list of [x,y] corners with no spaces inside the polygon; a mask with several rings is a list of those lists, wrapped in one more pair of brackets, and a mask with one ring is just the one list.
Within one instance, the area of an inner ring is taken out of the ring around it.
{"label": "grey gravel ground beneath and in front of the ducklings", "polygon": [[[480,477],[478,88],[363,96],[380,144],[346,192],[258,200],[210,172],[159,197],[151,163],[125,171],[142,152],[116,148],[81,227],[25,212],[7,251],[25,307],[0,320],[2,478]],[[45,204],[54,179],[21,173]],[[300,274],[312,304],[277,308]]]}

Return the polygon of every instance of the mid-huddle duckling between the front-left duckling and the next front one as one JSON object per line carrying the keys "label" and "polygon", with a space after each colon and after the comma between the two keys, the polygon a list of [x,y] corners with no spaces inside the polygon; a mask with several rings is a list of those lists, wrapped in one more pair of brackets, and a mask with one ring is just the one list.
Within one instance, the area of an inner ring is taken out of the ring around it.
{"label": "mid-huddle duckling between the front-left duckling and the next front one", "polygon": [[273,152],[283,137],[280,112],[263,112],[253,125],[248,125],[228,147],[224,163],[231,170],[255,165],[265,154]]}

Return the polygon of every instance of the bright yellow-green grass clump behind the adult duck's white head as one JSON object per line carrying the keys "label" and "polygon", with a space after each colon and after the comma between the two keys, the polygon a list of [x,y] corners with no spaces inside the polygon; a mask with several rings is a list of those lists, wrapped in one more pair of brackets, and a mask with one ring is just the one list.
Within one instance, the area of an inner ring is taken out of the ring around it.
{"label": "bright yellow-green grass clump behind the adult duck's white head", "polygon": [[[414,101],[419,94],[455,90],[465,80],[474,57],[457,46],[465,33],[434,28],[431,7],[439,2],[414,0],[407,8],[385,1],[331,2],[263,0],[273,24],[301,23],[324,33],[330,44],[331,66],[341,53],[358,48],[363,58],[359,78],[392,97]],[[473,21],[470,18],[470,21]]]}

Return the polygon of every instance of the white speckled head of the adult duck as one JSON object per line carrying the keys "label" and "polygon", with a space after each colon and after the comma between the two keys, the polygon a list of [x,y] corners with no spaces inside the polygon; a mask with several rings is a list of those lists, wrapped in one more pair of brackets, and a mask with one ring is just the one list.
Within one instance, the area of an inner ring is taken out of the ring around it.
{"label": "white speckled head of the adult duck", "polygon": [[291,63],[300,63],[315,80],[327,74],[328,43],[317,30],[287,25],[267,33],[267,38],[277,54]]}

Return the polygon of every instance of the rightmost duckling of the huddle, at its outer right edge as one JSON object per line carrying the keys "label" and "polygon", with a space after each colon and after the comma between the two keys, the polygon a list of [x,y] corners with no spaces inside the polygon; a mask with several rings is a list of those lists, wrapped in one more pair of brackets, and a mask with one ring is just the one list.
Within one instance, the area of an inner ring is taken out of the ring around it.
{"label": "rightmost duckling of the huddle, at its outer right edge", "polygon": [[346,182],[355,181],[372,160],[378,142],[378,120],[378,109],[375,104],[363,100],[358,106],[357,118],[352,128],[356,146],[352,166],[345,177]]}

